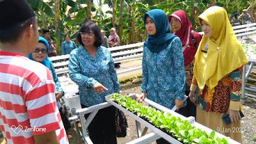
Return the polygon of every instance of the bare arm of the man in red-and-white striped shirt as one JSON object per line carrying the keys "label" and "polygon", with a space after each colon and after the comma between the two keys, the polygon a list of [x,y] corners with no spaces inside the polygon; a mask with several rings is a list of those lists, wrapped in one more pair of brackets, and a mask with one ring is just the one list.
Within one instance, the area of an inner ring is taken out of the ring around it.
{"label": "bare arm of the man in red-and-white striped shirt", "polygon": [[40,135],[34,135],[36,144],[59,144],[58,138],[55,131],[46,132]]}

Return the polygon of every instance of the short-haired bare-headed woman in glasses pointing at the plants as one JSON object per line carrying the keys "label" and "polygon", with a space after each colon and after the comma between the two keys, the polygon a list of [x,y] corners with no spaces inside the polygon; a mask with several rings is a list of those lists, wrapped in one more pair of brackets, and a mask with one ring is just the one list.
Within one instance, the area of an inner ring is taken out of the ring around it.
{"label": "short-haired bare-headed woman in glasses pointing at the plants", "polygon": [[[70,52],[69,75],[79,86],[82,108],[106,102],[105,96],[120,91],[111,53],[102,44],[100,28],[93,22],[81,26],[77,41],[80,46]],[[85,115],[88,118],[90,114]],[[88,127],[93,143],[116,143],[115,111],[100,109]]]}

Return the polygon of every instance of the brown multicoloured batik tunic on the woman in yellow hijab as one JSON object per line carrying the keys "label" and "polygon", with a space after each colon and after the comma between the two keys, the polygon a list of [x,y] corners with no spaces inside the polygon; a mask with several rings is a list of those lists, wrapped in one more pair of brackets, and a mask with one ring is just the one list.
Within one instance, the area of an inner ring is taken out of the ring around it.
{"label": "brown multicoloured batik tunic on the woman in yellow hijab", "polygon": [[[205,112],[225,114],[230,107],[231,102],[240,102],[240,92],[242,86],[242,67],[237,68],[228,76],[218,81],[218,85],[214,88],[215,92],[211,92],[210,88],[205,85],[203,90],[196,92],[195,104],[198,108]],[[192,84],[197,84],[193,77]],[[237,106],[239,110],[241,106]]]}

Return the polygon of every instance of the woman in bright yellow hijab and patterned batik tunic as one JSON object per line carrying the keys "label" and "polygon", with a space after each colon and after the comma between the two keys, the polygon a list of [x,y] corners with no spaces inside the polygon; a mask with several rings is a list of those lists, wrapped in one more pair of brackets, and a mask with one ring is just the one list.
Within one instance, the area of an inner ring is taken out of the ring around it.
{"label": "woman in bright yellow hijab and patterned batik tunic", "polygon": [[[247,58],[224,8],[208,8],[199,15],[198,22],[204,36],[196,51],[189,93],[197,106],[196,121],[241,142],[241,77]],[[221,120],[226,113],[230,125]]]}

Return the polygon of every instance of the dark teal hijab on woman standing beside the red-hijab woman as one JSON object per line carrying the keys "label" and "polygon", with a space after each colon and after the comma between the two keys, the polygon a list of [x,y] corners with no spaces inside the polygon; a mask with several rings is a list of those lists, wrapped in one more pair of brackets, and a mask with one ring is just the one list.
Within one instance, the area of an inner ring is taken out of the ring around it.
{"label": "dark teal hijab on woman standing beside the red-hijab woman", "polygon": [[156,25],[156,34],[148,35],[148,39],[144,43],[145,46],[151,52],[161,52],[168,47],[175,35],[170,33],[170,26],[168,19],[163,10],[154,9],[144,14],[143,21],[145,25],[145,20],[147,16],[150,17]]}

